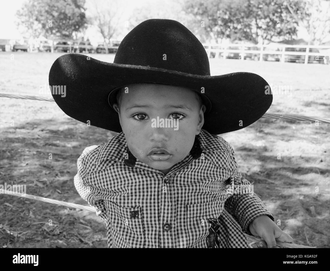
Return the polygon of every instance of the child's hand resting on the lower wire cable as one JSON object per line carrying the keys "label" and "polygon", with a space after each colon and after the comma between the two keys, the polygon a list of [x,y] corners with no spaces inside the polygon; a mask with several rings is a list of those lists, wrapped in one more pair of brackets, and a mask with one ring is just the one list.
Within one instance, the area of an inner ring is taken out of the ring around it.
{"label": "child's hand resting on the lower wire cable", "polygon": [[257,243],[259,248],[277,248],[276,241],[293,243],[291,236],[283,232],[268,215],[261,215],[253,219],[248,227],[255,237],[266,241],[259,241]]}

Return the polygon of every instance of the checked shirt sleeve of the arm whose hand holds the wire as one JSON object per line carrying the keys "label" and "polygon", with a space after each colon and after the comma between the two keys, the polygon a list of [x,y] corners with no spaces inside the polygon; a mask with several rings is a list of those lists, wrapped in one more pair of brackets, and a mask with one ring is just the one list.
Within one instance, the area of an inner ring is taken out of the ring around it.
{"label": "checked shirt sleeve of the arm whose hand holds the wire", "polygon": [[[253,185],[251,185],[248,180],[242,179],[242,175],[239,172],[239,168],[234,157],[234,150],[231,146],[230,149],[234,163],[234,173],[229,178],[229,184],[227,187],[230,189],[232,194],[229,193],[231,196],[227,198],[225,208],[234,214],[235,218],[241,224],[243,231],[251,234],[248,226],[253,219],[261,215],[268,215],[274,221],[274,217],[268,211],[265,204],[260,200],[257,194],[253,192]],[[244,191],[245,193],[240,193]]]}

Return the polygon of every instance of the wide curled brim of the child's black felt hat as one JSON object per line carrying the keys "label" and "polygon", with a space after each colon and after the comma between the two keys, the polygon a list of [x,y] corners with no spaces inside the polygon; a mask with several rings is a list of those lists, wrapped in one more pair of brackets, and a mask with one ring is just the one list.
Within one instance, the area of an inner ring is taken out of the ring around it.
{"label": "wide curled brim of the child's black felt hat", "polygon": [[[212,103],[203,129],[223,134],[257,121],[272,104],[265,94],[268,83],[250,72],[201,76],[161,68],[102,62],[81,54],[60,56],[49,71],[50,86],[65,86],[65,96],[52,93],[64,113],[83,123],[121,132],[118,114],[109,105],[109,94],[123,85],[164,84],[189,88]],[[53,88],[54,89],[54,88]],[[56,89],[56,87],[55,87]]]}

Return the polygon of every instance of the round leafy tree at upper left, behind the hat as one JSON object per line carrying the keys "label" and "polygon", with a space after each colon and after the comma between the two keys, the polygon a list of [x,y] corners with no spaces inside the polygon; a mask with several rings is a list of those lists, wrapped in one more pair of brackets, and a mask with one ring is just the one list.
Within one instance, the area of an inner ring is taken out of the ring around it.
{"label": "round leafy tree at upper left, behind the hat", "polygon": [[18,26],[32,37],[73,38],[86,28],[85,0],[28,0],[17,11]]}

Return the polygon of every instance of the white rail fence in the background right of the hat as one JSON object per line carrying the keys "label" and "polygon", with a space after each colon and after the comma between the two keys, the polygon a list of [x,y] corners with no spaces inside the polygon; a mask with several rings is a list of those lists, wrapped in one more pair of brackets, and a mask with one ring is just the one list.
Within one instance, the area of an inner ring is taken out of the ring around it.
{"label": "white rail fence in the background right of the hat", "polygon": [[[286,45],[286,44],[203,44],[209,58],[254,59],[259,61],[272,60],[300,63],[329,64],[330,46]],[[237,48],[237,49],[236,49]],[[320,49],[320,50],[319,50]]]}

